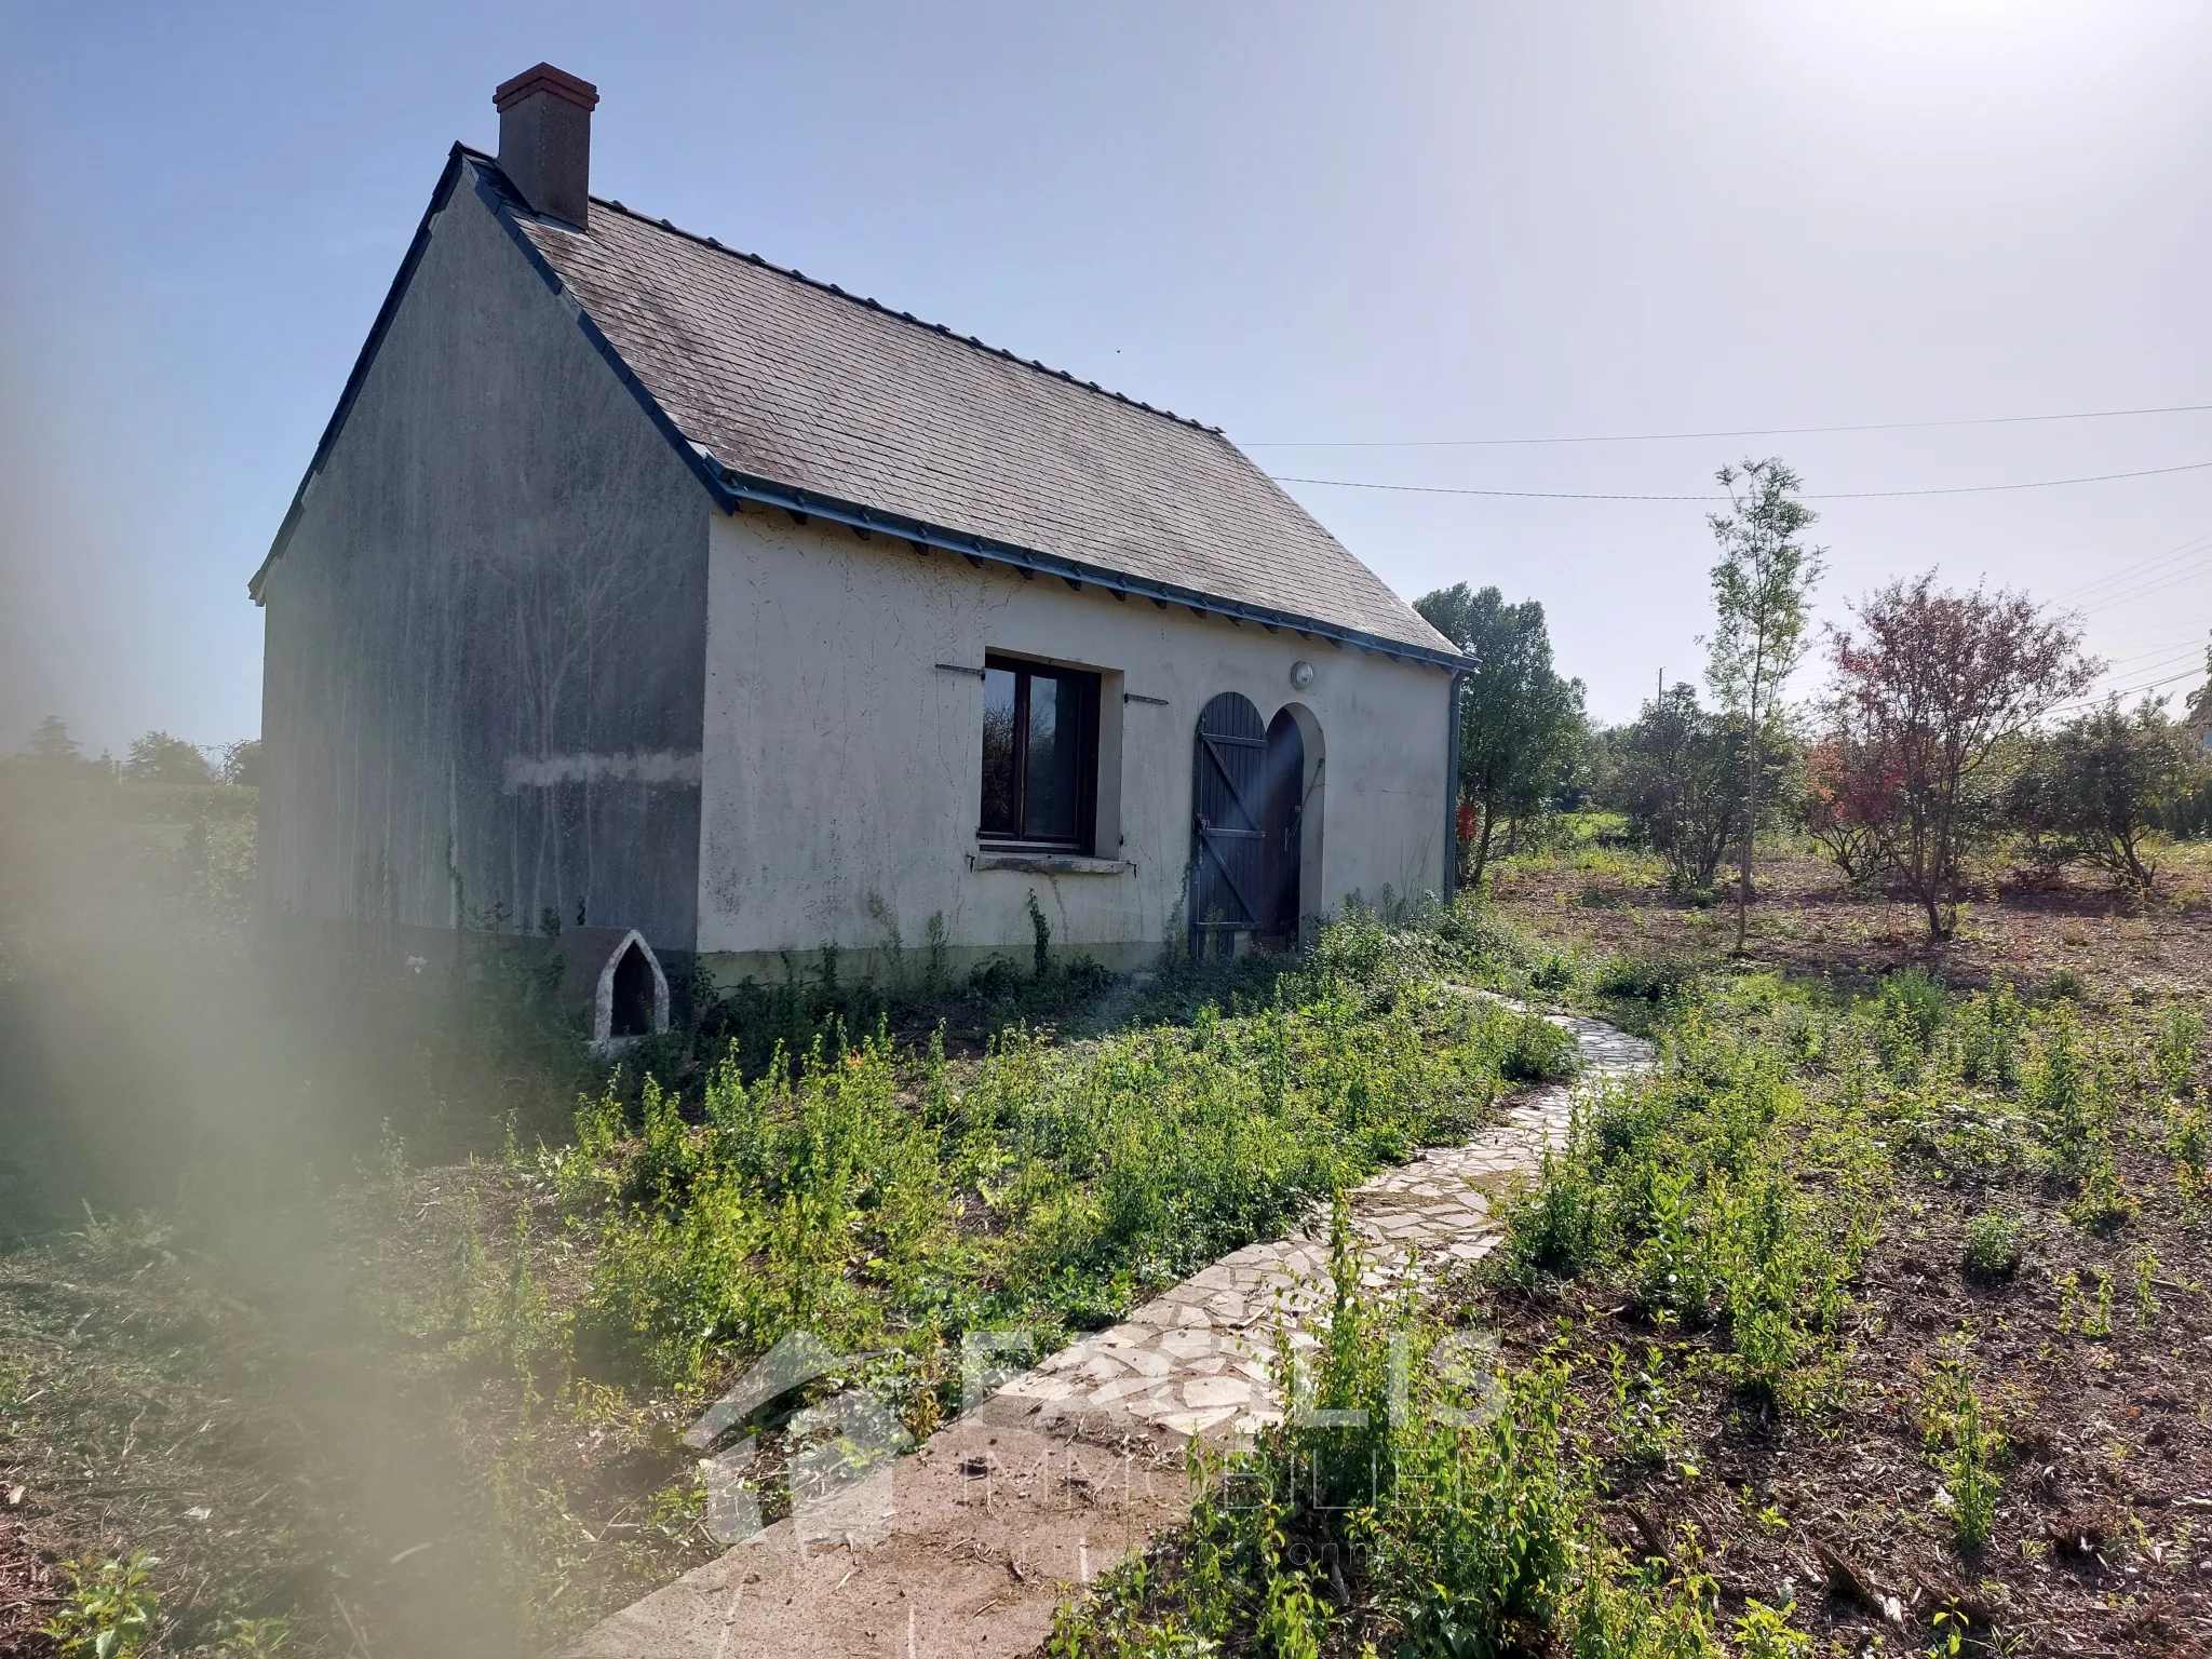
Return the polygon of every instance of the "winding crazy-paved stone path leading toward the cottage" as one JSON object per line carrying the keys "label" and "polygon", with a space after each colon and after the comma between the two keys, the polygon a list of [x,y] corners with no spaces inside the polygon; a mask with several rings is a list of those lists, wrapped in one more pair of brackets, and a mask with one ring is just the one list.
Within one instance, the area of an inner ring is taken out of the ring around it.
{"label": "winding crazy-paved stone path leading toward the cottage", "polygon": [[[1484,993],[1471,993],[1484,995]],[[1478,1261],[1491,1199],[1566,1135],[1575,1093],[1652,1064],[1597,1020],[1546,1015],[1582,1048],[1575,1084],[1531,1088],[1467,1146],[1347,1194],[1378,1294]],[[1053,1610],[1190,1511],[1183,1447],[1281,1418],[1270,1358],[1327,1287],[1327,1212],[1245,1245],[1128,1321],[1015,1376],[911,1458],[754,1533],[615,1613],[568,1659],[964,1659],[1024,1655]]]}

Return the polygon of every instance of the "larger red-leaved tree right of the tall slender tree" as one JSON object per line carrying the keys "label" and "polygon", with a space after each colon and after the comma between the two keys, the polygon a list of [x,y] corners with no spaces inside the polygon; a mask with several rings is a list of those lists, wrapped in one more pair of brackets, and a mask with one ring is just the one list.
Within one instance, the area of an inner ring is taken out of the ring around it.
{"label": "larger red-leaved tree right of the tall slender tree", "polygon": [[1829,641],[1843,794],[1920,900],[1929,938],[1958,927],[1966,858],[2000,827],[1993,759],[2104,670],[2073,617],[2022,593],[1953,593],[1929,571],[1876,588]]}

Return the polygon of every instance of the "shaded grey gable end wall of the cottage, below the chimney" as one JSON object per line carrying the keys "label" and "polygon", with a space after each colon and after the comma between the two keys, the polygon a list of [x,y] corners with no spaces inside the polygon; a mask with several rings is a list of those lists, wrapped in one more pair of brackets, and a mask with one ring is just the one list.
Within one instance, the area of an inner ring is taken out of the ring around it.
{"label": "shaded grey gable end wall of the cottage, below the chimney", "polygon": [[265,575],[263,914],[692,949],[708,515],[465,175]]}

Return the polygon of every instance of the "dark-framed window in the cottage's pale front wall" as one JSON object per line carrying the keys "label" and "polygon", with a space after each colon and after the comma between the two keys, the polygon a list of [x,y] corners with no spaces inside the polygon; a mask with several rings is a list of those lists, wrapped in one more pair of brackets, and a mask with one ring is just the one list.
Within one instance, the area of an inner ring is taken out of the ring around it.
{"label": "dark-framed window in the cottage's pale front wall", "polygon": [[1099,776],[1099,677],[984,657],[984,841],[1091,852]]}

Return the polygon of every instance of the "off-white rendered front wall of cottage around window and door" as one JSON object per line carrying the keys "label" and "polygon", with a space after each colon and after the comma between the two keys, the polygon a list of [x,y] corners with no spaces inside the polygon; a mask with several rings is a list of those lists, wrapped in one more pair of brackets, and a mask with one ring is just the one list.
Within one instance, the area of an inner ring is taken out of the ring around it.
{"label": "off-white rendered front wall of cottage around window and door", "polygon": [[[1115,874],[971,869],[982,792],[984,653],[1104,675],[1099,854]],[[1292,690],[1292,664],[1314,684]],[[1128,967],[1159,953],[1190,858],[1192,730],[1237,690],[1263,721],[1298,703],[1323,734],[1301,909],[1436,891],[1444,869],[1447,679],[1352,646],[1199,619],[953,553],[860,542],[745,509],[708,542],[699,953],[774,971],[776,951],[869,949],[876,896],[909,949],[942,911],[949,942],[1031,940],[1037,889],[1053,947]],[[1124,692],[1166,706],[1126,703]],[[1307,763],[1312,768],[1312,745]],[[1312,878],[1321,818],[1321,883]]]}

